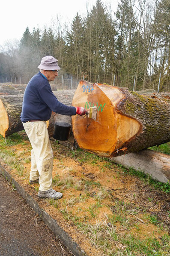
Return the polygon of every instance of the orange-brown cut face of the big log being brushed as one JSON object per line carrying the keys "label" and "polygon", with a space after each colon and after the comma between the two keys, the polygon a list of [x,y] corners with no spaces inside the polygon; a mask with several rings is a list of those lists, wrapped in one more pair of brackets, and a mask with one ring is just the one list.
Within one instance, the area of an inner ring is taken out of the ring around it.
{"label": "orange-brown cut face of the big log being brushed", "polygon": [[124,94],[118,87],[81,80],[72,105],[86,109],[96,105],[98,111],[96,120],[87,116],[72,117],[73,133],[80,148],[109,157],[138,133],[140,123],[137,120],[116,112],[117,104],[123,99]]}

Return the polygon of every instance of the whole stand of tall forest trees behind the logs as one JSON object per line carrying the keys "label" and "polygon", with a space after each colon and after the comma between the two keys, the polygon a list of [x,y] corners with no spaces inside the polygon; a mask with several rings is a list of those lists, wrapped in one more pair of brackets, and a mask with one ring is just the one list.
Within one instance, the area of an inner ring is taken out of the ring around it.
{"label": "whole stand of tall forest trees behind the logs", "polygon": [[12,42],[0,53],[0,75],[32,77],[42,57],[58,59],[60,74],[91,82],[145,89],[170,87],[170,3],[168,0],[119,0],[114,19],[101,0],[84,19],[78,13],[70,31],[59,19],[52,28],[29,28],[19,47]]}

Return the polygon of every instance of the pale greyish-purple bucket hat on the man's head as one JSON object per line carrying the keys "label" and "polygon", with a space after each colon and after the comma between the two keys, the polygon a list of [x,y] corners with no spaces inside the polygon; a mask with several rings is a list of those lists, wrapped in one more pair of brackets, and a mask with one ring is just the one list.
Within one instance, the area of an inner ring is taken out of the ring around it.
{"label": "pale greyish-purple bucket hat on the man's head", "polygon": [[43,70],[59,70],[58,61],[53,56],[45,56],[41,60],[41,64],[38,66],[39,69]]}

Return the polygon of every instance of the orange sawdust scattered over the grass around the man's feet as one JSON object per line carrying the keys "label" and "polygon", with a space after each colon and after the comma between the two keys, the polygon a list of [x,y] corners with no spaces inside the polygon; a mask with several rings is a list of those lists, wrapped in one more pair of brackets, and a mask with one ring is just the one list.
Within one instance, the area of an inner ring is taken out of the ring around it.
{"label": "orange sawdust scattered over the grass around the man's feet", "polygon": [[[24,132],[22,135],[25,136]],[[73,222],[74,218],[79,218],[79,221],[84,224],[92,225],[97,222],[108,222],[109,216],[118,214],[117,202],[119,205],[125,202],[129,222],[137,222],[136,226],[131,226],[132,234],[140,239],[145,237],[160,239],[159,237],[167,234],[147,219],[147,216],[156,214],[158,221],[166,226],[169,225],[167,211],[170,210],[170,198],[166,193],[156,191],[139,178],[123,173],[116,164],[110,165],[107,160],[100,157],[95,158],[94,161],[78,159],[74,157],[74,154],[73,156],[67,154],[71,149],[56,145],[53,141],[51,144],[54,151],[53,188],[63,193],[63,198],[57,201],[57,208],[51,205],[49,200],[37,197],[39,185],[29,184],[31,163],[29,160],[23,161],[30,157],[31,146],[28,140],[24,142],[24,145],[18,144],[10,147],[17,153],[18,160],[24,164],[24,175],[18,176],[15,169],[12,170],[5,163],[3,165],[34,197],[40,207],[56,219],[88,255],[102,255],[102,252],[95,250],[95,247],[90,244],[88,235],[82,234]],[[74,153],[74,151],[71,152]],[[98,197],[100,201],[97,206]],[[137,209],[137,214],[135,209]],[[115,227],[119,233],[125,232],[119,221],[115,222]]]}

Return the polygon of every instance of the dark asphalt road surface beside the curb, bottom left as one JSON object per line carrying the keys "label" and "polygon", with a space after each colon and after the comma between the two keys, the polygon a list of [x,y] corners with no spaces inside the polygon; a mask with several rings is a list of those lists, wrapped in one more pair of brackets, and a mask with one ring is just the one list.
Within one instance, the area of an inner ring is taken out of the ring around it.
{"label": "dark asphalt road surface beside the curb, bottom left", "polygon": [[0,174],[0,256],[16,255],[72,254]]}

